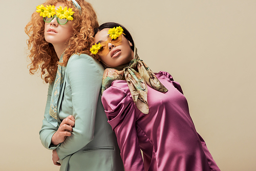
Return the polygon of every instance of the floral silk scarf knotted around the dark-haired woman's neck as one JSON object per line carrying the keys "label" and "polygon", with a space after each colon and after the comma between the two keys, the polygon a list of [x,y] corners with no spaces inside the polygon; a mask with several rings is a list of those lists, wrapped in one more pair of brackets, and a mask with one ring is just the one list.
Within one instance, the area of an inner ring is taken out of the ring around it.
{"label": "floral silk scarf knotted around the dark-haired woman's neck", "polygon": [[163,93],[168,90],[157,79],[151,69],[139,58],[137,48],[134,54],[134,59],[131,60],[128,65],[108,68],[109,66],[103,63],[106,69],[102,78],[101,95],[104,90],[111,86],[114,80],[126,80],[137,108],[142,113],[148,114],[147,85]]}

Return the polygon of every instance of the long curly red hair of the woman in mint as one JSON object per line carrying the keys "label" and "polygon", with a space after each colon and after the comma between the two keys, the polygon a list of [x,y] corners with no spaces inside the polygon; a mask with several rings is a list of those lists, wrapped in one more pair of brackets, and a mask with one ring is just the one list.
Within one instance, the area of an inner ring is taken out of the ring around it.
{"label": "long curly red hair of the woman in mint", "polygon": [[[81,13],[73,5],[72,1],[48,0],[42,4],[46,6],[63,3],[75,12],[73,14],[73,33],[71,38],[67,40],[63,63],[60,63],[62,66],[67,65],[72,54],[84,53],[90,55],[90,46],[94,40],[94,29],[99,27],[97,15],[92,5],[84,0],[76,0],[76,2],[81,6]],[[25,27],[25,32],[29,36],[27,44],[31,60],[28,66],[30,74],[35,74],[37,70],[40,70],[41,78],[46,83],[51,83],[54,81],[59,59],[53,45],[45,39],[45,22],[42,16],[34,12],[31,21]]]}

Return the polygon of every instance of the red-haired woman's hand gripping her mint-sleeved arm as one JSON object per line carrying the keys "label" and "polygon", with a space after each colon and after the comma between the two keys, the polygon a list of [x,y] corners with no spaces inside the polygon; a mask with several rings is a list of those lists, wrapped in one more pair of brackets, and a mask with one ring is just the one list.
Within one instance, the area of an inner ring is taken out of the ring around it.
{"label": "red-haired woman's hand gripping her mint-sleeved arm", "polygon": [[70,137],[75,125],[75,118],[70,115],[63,119],[59,125],[58,130],[52,136],[52,144],[58,145],[59,143],[65,141],[67,137]]}

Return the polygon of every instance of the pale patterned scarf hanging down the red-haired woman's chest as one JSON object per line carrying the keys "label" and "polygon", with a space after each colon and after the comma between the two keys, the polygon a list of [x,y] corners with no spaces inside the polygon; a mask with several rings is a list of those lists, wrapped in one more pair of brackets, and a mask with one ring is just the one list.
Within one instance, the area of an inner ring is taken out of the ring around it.
{"label": "pale patterned scarf hanging down the red-haired woman's chest", "polygon": [[[63,56],[64,56],[64,52],[60,56],[60,59],[59,59],[60,63],[63,62]],[[49,115],[47,118],[48,122],[50,122],[55,127],[57,127],[57,125],[58,125],[57,103],[58,103],[59,94],[61,92],[65,69],[66,69],[66,67],[62,67],[62,66],[58,65],[57,74],[56,74],[54,87],[53,87],[53,91],[52,91],[50,111],[49,111]]]}

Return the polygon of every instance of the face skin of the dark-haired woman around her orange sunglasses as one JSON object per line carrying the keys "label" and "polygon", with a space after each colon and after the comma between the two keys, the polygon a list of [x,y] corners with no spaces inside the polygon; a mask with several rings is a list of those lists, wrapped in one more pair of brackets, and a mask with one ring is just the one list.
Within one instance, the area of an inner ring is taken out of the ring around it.
{"label": "face skin of the dark-haired woman around her orange sunglasses", "polygon": [[[94,37],[94,43],[104,42],[109,38],[109,28],[102,29]],[[132,43],[127,40],[124,35],[122,36],[122,41],[118,45],[114,45],[111,42],[108,42],[105,48],[108,48],[108,52],[104,55],[99,55],[101,61],[106,65],[115,68],[117,66],[124,65],[129,63],[133,59],[134,52],[131,47]]]}

